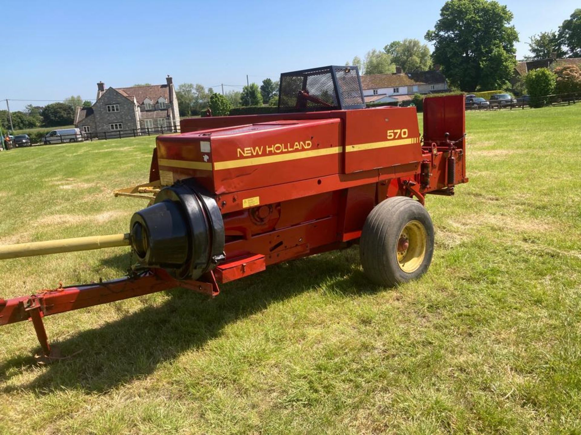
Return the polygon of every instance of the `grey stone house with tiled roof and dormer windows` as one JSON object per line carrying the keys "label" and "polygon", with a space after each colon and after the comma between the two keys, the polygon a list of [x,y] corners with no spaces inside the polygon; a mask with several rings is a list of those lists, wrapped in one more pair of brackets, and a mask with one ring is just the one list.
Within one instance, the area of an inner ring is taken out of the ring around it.
{"label": "grey stone house with tiled roof and dormer windows", "polygon": [[74,124],[82,132],[97,137],[105,132],[179,131],[180,115],[173,80],[168,75],[164,85],[107,89],[99,82],[95,104],[77,107]]}

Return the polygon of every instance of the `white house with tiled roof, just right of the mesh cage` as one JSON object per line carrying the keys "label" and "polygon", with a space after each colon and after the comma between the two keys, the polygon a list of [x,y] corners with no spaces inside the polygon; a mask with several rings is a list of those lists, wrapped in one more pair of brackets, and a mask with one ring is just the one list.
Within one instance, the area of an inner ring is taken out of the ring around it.
{"label": "white house with tiled roof, just right of the mesh cage", "polygon": [[446,78],[435,65],[430,71],[403,73],[396,67],[393,74],[370,74],[361,76],[365,103],[398,104],[411,100],[414,94],[446,92]]}

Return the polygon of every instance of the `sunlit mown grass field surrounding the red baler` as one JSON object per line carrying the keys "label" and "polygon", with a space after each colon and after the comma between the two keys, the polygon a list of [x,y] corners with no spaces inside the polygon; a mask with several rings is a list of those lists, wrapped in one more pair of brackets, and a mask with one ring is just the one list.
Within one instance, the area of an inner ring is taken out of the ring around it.
{"label": "sunlit mown grass field surrounding the red baler", "polygon": [[[0,328],[0,433],[581,433],[581,105],[468,113],[470,182],[428,197],[428,274],[357,248]],[[153,137],[0,153],[0,243],[110,234]],[[121,276],[123,248],[0,263],[0,296]]]}

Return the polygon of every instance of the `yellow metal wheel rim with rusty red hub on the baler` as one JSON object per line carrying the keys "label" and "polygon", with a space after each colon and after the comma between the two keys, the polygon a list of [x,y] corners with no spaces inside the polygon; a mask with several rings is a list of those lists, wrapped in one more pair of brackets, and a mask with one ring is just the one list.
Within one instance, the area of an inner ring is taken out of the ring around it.
{"label": "yellow metal wheel rim with rusty red hub on the baler", "polygon": [[411,220],[403,227],[397,238],[397,263],[401,270],[412,273],[418,270],[426,255],[428,236],[419,220]]}

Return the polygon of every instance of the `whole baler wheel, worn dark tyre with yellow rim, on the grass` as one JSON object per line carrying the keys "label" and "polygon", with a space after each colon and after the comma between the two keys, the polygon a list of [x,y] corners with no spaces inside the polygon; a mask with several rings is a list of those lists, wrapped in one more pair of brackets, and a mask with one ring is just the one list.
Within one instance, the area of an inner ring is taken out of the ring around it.
{"label": "whole baler wheel, worn dark tyre with yellow rim, on the grass", "polygon": [[[403,242],[399,245],[400,238]],[[432,262],[433,250],[432,219],[424,206],[412,198],[393,197],[380,202],[367,216],[361,231],[361,265],[367,277],[378,285],[393,287],[421,277]]]}

